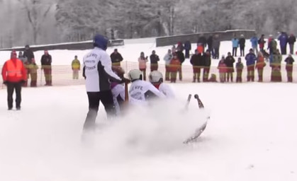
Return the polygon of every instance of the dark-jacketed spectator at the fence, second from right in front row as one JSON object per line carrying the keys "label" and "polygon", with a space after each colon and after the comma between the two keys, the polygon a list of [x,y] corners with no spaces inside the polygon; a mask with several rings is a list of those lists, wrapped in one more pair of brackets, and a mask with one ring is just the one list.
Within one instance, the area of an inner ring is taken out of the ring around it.
{"label": "dark-jacketed spectator at the fence, second from right in front row", "polygon": [[273,55],[273,62],[271,63],[271,81],[281,82],[281,53],[276,49],[276,54]]}

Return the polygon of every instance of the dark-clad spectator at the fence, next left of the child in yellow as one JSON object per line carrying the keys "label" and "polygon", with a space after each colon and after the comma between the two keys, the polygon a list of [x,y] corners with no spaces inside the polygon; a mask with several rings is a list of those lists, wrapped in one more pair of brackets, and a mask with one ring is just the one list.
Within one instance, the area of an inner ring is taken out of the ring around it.
{"label": "dark-clad spectator at the fence, next left of the child in yellow", "polygon": [[41,57],[41,69],[45,74],[45,86],[52,86],[52,56],[45,50]]}

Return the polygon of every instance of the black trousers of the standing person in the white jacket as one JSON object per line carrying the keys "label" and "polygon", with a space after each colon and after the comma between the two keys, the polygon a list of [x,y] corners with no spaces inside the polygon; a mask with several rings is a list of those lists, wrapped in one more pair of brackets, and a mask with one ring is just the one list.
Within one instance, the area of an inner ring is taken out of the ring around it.
{"label": "black trousers of the standing person in the white jacket", "polygon": [[87,92],[89,98],[89,112],[86,115],[86,121],[84,122],[84,129],[94,129],[99,110],[99,103],[104,105],[106,115],[108,118],[116,115],[116,107],[113,103],[113,95],[111,90],[101,92]]}

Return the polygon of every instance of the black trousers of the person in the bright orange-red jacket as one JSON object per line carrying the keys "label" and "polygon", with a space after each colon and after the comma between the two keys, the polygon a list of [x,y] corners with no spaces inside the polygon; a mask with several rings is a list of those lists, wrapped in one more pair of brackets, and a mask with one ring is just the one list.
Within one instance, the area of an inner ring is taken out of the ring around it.
{"label": "black trousers of the person in the bright orange-red jacket", "polygon": [[16,90],[16,107],[21,107],[21,82],[8,82],[7,83],[7,103],[9,105],[9,109],[13,107],[13,91]]}

